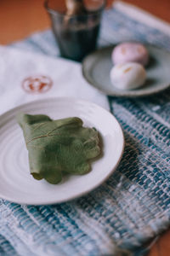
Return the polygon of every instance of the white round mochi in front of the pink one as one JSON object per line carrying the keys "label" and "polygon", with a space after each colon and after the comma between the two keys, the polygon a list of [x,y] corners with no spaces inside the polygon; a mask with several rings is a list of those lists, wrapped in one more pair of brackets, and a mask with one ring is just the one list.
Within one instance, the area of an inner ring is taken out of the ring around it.
{"label": "white round mochi in front of the pink one", "polygon": [[120,90],[132,90],[144,84],[144,67],[135,62],[118,64],[111,69],[111,84]]}

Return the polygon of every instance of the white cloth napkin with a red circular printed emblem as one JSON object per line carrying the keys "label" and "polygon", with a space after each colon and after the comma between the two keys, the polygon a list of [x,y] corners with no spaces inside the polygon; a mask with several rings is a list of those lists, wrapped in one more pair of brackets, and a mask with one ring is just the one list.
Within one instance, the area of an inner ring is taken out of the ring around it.
{"label": "white cloth napkin with a red circular printed emblem", "polygon": [[76,97],[109,109],[107,97],[82,77],[81,64],[0,46],[0,114],[22,103],[55,96]]}

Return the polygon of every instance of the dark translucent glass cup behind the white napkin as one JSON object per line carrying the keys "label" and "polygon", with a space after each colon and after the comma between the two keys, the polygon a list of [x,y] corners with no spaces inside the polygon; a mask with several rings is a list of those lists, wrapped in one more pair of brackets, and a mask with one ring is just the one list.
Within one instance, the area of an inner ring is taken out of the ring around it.
{"label": "dark translucent glass cup behind the white napkin", "polygon": [[66,12],[52,9],[50,1],[45,1],[60,55],[74,61],[82,61],[96,48],[105,0],[84,1],[84,6],[86,13],[67,15]]}

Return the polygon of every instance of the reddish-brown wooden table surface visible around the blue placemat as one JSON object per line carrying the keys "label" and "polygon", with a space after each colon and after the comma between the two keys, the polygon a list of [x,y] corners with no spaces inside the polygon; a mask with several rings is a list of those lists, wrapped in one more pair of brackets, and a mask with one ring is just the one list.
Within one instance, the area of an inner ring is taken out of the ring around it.
{"label": "reddish-brown wooden table surface visible around the blue placemat", "polygon": [[[62,1],[62,0],[56,0]],[[108,0],[108,6],[112,0]],[[170,22],[170,0],[125,0],[151,14]],[[9,44],[26,38],[32,32],[50,26],[43,0],[1,0],[0,1],[0,44]],[[151,248],[148,256],[170,255],[170,230],[162,234]]]}

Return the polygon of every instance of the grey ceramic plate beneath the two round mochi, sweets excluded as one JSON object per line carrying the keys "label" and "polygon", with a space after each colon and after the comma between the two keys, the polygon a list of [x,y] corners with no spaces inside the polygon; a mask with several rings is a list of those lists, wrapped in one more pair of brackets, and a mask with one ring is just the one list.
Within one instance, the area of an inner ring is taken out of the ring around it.
{"label": "grey ceramic plate beneath the two round mochi, sweets excluded", "polygon": [[116,45],[98,49],[82,61],[82,74],[89,84],[109,96],[150,96],[170,86],[170,52],[154,45],[145,44],[150,54],[146,66],[147,79],[142,87],[133,90],[119,90],[111,84],[110,72],[113,67],[111,52]]}

